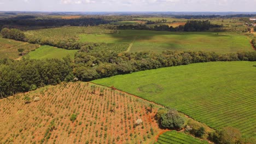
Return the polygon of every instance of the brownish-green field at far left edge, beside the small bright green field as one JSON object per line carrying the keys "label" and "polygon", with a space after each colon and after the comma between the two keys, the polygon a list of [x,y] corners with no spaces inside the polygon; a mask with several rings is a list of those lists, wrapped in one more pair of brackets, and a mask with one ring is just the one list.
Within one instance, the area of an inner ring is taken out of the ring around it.
{"label": "brownish-green field at far left edge, beside the small bright green field", "polygon": [[39,47],[39,45],[0,37],[0,58],[16,59],[20,57],[18,49],[24,49],[24,52],[30,52],[37,47]]}

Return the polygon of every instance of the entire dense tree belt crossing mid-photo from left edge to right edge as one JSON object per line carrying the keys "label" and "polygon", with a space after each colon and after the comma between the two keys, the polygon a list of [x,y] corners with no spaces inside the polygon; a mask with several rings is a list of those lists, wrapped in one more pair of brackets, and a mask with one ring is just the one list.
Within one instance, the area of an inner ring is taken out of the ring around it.
{"label": "entire dense tree belt crossing mid-photo from left edge to right edge", "polygon": [[90,81],[118,74],[190,63],[256,61],[256,52],[227,54],[201,51],[120,53],[120,51],[114,50],[98,49],[94,51],[95,46],[97,45],[84,47],[77,52],[75,63],[72,63],[69,57],[65,57],[63,60],[24,58],[21,61],[13,61],[0,59],[0,97],[32,91],[45,85],[56,85],[62,81],[72,81],[74,76],[82,81]]}

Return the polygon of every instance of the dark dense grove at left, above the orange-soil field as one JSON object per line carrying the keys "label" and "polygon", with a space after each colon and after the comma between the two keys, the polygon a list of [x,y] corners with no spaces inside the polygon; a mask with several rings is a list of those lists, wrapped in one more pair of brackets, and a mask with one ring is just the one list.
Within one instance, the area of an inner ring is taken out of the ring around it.
{"label": "dark dense grove at left, above the orange-soil field", "polygon": [[72,79],[72,63],[69,57],[63,60],[0,59],[0,98]]}

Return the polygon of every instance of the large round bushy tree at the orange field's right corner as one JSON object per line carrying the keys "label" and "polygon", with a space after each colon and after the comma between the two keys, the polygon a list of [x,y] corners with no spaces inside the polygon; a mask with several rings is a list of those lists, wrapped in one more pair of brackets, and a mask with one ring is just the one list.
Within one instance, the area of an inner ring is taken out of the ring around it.
{"label": "large round bushy tree at the orange field's right corner", "polygon": [[169,110],[167,113],[161,115],[161,126],[168,129],[180,129],[183,127],[184,118],[179,116],[178,112],[174,109]]}

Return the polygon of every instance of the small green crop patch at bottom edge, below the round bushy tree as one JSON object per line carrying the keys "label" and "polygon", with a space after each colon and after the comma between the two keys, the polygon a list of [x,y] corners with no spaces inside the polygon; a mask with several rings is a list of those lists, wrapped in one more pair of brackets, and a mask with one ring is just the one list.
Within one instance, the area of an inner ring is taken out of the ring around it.
{"label": "small green crop patch at bottom edge, below the round bushy tree", "polygon": [[166,133],[160,135],[158,137],[158,143],[160,144],[176,144],[176,143],[181,143],[181,144],[191,144],[191,143],[202,143],[202,144],[207,144],[207,141],[202,141],[200,139],[196,139],[190,135],[184,134],[184,133],[178,133],[177,131],[167,131]]}

